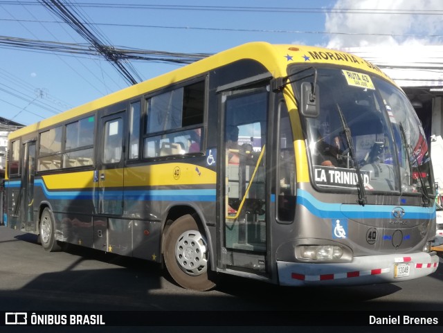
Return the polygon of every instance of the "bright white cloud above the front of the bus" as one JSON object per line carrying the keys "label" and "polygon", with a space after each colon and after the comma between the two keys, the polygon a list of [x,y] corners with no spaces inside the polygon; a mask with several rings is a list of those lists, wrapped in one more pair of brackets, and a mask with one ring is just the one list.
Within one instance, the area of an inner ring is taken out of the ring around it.
{"label": "bright white cloud above the front of the bus", "polygon": [[[378,10],[396,10],[397,12],[426,10],[436,13],[436,10],[443,10],[441,0],[338,0],[334,9],[346,9],[346,11],[328,13],[325,30],[330,33],[343,33],[343,35],[329,35],[327,44],[329,48],[442,44],[442,37],[431,36],[442,35],[441,15],[377,13]],[[352,13],[352,10],[362,9],[369,12]],[[355,33],[368,35],[353,35]]]}

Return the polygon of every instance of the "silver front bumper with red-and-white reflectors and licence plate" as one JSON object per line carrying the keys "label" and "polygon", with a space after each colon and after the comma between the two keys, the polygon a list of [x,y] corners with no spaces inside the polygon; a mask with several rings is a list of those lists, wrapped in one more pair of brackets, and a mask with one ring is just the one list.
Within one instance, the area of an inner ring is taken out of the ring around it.
{"label": "silver front bumper with red-and-white reflectors and licence plate", "polygon": [[345,263],[277,261],[280,285],[367,285],[401,282],[437,270],[435,252],[354,257]]}

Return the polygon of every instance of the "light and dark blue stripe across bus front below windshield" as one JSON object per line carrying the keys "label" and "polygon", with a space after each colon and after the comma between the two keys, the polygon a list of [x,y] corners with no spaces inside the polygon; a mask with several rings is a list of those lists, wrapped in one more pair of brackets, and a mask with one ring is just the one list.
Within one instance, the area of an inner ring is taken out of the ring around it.
{"label": "light and dark blue stripe across bus front below windshield", "polygon": [[[398,206],[365,205],[359,204],[329,204],[319,201],[305,190],[297,190],[297,204],[305,206],[312,214],[322,218],[351,219],[392,219],[392,210]],[[406,212],[405,219],[431,219],[435,215],[435,208],[402,206]]]}

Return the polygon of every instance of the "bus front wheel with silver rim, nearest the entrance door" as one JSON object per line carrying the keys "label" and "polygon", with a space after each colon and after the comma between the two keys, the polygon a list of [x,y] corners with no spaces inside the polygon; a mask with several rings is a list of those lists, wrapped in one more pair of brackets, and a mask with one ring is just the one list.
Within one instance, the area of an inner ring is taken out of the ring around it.
{"label": "bus front wheel with silver rim, nearest the entrance door", "polygon": [[181,287],[206,291],[215,287],[208,278],[209,255],[204,231],[191,215],[176,219],[164,238],[163,258],[170,276]]}

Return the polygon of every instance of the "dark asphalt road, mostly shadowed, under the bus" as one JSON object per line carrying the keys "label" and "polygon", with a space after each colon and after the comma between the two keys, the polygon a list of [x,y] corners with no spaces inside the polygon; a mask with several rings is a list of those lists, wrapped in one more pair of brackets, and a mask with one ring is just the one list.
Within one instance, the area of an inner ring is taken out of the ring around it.
{"label": "dark asphalt road, mostly shadowed, under the bus", "polygon": [[398,284],[283,288],[226,276],[213,291],[189,291],[158,264],[78,246],[48,253],[35,235],[0,226],[0,311],[432,310],[443,309],[442,290],[441,264]]}

